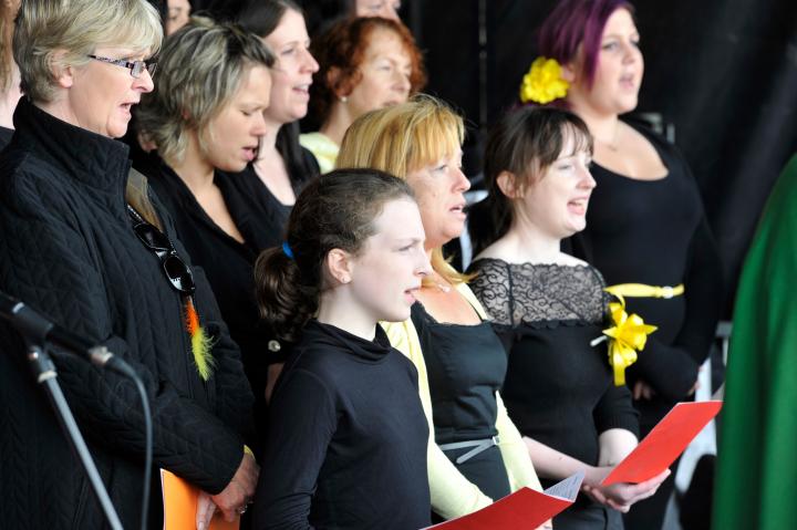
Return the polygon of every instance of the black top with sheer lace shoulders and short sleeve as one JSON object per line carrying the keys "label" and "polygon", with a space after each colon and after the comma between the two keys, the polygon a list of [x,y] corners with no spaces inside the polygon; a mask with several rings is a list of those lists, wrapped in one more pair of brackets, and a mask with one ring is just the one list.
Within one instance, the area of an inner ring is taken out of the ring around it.
{"label": "black top with sheer lace shoulders and short sleeve", "polygon": [[638,433],[625,386],[614,386],[601,336],[608,302],[590,266],[510,264],[479,259],[469,272],[509,353],[501,396],[521,434],[579,460],[598,463],[598,435]]}

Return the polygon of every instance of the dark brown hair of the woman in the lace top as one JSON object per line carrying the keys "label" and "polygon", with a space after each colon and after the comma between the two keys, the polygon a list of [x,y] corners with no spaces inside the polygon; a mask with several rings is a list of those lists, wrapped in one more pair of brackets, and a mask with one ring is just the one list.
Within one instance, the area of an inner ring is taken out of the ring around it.
{"label": "dark brown hair of the woman in the lace top", "polygon": [[498,176],[511,173],[519,189],[535,184],[559,158],[568,138],[573,138],[577,152],[592,153],[592,135],[587,124],[576,114],[556,107],[521,107],[493,127],[485,147],[488,195],[468,214],[474,254],[504,237],[511,227],[513,200],[498,186]]}

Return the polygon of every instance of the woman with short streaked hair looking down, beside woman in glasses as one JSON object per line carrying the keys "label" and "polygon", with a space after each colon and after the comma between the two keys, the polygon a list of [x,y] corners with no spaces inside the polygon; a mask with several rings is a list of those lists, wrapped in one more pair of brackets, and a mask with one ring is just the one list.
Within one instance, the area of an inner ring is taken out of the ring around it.
{"label": "woman with short streaked hair looking down, beside woman in glasses", "polygon": [[166,39],[158,85],[136,110],[139,128],[158,146],[142,173],[208,276],[241,349],[258,416],[266,406],[268,365],[281,358],[268,349],[270,337],[259,323],[252,266],[261,250],[281,240],[282,221],[268,202],[241,190],[238,180],[251,175],[238,173],[266,134],[272,64],[257,37],[195,17]]}

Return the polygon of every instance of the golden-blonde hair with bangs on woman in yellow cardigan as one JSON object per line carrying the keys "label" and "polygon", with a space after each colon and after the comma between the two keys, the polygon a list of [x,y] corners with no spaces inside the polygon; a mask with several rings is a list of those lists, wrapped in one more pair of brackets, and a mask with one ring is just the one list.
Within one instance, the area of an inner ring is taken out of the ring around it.
{"label": "golden-blonde hair with bangs on woman in yellow cardigan", "polygon": [[[464,138],[462,116],[441,100],[418,94],[355,119],[343,136],[335,167],[370,167],[406,179],[410,173],[452,156]],[[442,248],[432,251],[432,268],[455,284],[470,278],[448,264]]]}

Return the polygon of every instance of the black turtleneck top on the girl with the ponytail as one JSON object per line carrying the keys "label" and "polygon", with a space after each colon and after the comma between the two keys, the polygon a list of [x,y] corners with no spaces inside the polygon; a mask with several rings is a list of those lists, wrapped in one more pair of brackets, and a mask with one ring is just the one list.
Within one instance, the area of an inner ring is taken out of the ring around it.
{"label": "black turtleneck top on the girl with the ponytail", "polygon": [[375,326],[308,323],[277,383],[256,529],[429,524],[428,425],[417,372]]}

